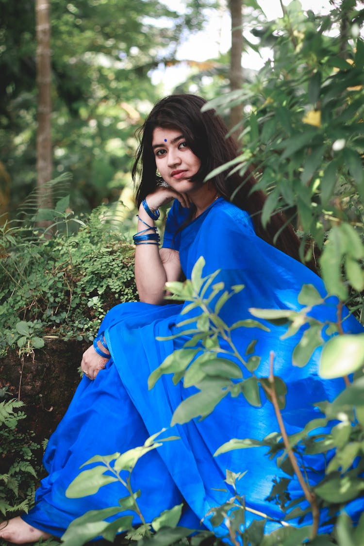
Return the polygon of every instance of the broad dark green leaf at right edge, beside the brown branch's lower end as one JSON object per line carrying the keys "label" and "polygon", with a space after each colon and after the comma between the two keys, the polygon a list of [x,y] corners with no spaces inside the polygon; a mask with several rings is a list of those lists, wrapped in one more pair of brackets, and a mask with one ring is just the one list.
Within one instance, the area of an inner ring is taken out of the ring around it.
{"label": "broad dark green leaf at right edge, beside the brown branch's lower end", "polygon": [[314,488],[315,494],[332,503],[348,502],[364,490],[364,480],[346,474],[335,475]]}

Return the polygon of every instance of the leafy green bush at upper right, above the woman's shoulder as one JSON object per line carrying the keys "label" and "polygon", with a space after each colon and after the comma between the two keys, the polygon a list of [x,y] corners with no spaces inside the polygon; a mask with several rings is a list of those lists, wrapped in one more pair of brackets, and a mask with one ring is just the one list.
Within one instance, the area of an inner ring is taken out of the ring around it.
{"label": "leafy green bush at upper right, above the woman's shoulder", "polygon": [[[313,240],[321,251],[327,289],[346,301],[364,289],[363,117],[364,41],[359,2],[342,2],[330,14],[303,13],[299,1],[275,21],[264,21],[258,4],[254,33],[273,60],[241,90],[206,108],[244,104],[241,155],[222,169],[241,174],[250,165],[257,189],[267,195],[266,224],[277,208],[303,232],[302,256]],[[341,31],[341,32],[339,32]],[[211,173],[208,178],[211,178]]]}

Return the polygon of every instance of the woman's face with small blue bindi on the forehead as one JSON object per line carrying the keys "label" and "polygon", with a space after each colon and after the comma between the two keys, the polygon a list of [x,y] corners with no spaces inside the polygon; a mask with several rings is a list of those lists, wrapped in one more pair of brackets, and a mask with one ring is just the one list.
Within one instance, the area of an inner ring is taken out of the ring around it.
{"label": "woman's face with small blue bindi on the forehead", "polygon": [[190,182],[190,179],[200,169],[201,161],[187,146],[180,129],[156,127],[152,147],[157,169],[172,188],[186,193],[200,186],[198,182]]}

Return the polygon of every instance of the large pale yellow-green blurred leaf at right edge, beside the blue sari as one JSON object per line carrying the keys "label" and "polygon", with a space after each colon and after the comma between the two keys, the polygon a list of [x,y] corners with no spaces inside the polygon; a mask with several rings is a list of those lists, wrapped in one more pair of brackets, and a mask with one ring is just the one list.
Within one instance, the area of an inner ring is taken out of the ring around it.
{"label": "large pale yellow-green blurred leaf at right edge, beside the blue sari", "polygon": [[331,337],[320,358],[319,375],[325,379],[343,377],[364,365],[364,334]]}

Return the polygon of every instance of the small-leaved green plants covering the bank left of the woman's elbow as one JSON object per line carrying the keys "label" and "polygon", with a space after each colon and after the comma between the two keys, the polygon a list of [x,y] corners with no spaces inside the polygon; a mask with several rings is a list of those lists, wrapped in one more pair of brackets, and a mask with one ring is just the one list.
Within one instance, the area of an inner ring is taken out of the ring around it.
{"label": "small-leaved green plants covering the bank left of the woman's elbow", "polygon": [[133,246],[110,223],[110,210],[100,207],[82,222],[57,214],[52,239],[25,227],[1,229],[3,351],[16,345],[32,354],[44,336],[90,339],[110,307],[136,298]]}

